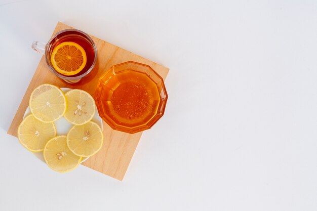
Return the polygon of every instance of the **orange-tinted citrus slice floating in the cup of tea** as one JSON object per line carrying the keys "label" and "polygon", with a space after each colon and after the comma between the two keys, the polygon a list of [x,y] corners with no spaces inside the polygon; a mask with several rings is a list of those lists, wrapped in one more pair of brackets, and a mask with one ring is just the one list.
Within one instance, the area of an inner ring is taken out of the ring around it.
{"label": "orange-tinted citrus slice floating in the cup of tea", "polygon": [[87,63],[86,52],[77,43],[63,42],[53,49],[51,63],[61,74],[75,75],[82,71]]}

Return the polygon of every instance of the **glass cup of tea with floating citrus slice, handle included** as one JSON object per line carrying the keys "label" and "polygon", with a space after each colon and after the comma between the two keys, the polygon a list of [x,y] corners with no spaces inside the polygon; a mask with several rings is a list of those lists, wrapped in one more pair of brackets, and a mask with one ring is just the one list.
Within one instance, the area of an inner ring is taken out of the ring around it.
{"label": "glass cup of tea with floating citrus slice, handle included", "polygon": [[92,38],[76,29],[56,33],[48,44],[34,42],[32,48],[45,54],[52,72],[70,83],[86,76],[97,61],[97,48]]}

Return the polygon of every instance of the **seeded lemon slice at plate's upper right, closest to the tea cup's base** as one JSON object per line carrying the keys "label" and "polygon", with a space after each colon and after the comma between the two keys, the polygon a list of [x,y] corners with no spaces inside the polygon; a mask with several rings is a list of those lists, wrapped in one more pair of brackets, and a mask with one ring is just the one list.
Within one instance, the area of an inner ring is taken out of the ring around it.
{"label": "seeded lemon slice at plate's upper right, closest to the tea cup's base", "polygon": [[67,111],[64,117],[72,124],[81,125],[89,122],[96,112],[93,97],[83,90],[70,90],[66,94]]}

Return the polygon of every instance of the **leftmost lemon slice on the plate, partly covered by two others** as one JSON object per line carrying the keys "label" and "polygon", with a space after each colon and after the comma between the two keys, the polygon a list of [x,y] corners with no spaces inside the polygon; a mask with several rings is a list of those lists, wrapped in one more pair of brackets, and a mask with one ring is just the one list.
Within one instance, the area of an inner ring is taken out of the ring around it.
{"label": "leftmost lemon slice on the plate, partly covered by two others", "polygon": [[53,122],[39,121],[32,114],[26,116],[18,128],[20,143],[32,152],[43,151],[45,144],[56,136],[56,128]]}

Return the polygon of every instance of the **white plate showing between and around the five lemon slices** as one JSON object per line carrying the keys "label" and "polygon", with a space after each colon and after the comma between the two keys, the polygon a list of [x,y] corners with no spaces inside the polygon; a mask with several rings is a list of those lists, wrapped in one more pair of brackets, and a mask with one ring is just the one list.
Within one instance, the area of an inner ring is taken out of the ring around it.
{"label": "white plate showing between and around the five lemon slices", "polygon": [[[63,91],[63,93],[66,93],[67,91],[71,90],[69,88],[61,88],[61,90]],[[24,113],[24,116],[27,116],[28,114],[30,114],[31,111],[30,111],[30,108],[27,107],[26,108],[26,111]],[[92,119],[92,121],[96,122],[101,130],[102,130],[102,119],[101,117],[99,116],[99,113],[98,113],[98,109],[96,107],[96,113]],[[56,132],[57,132],[57,136],[60,136],[60,135],[67,135],[69,129],[73,126],[72,123],[69,123],[65,118],[64,116],[62,116],[60,119],[54,121],[54,124],[56,126]],[[43,162],[45,162],[44,160],[44,156],[43,156],[43,152],[32,152],[38,159],[42,160]],[[83,160],[82,162],[86,161],[89,157],[83,157]],[[81,162],[81,163],[82,163]]]}

